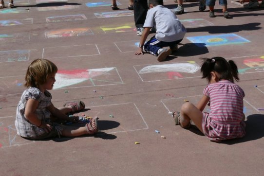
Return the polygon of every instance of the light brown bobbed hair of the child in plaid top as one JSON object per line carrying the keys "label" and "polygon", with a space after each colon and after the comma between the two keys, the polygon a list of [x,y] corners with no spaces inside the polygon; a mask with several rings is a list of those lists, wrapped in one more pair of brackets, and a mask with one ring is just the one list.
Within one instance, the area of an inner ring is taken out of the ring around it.
{"label": "light brown bobbed hair of the child in plaid top", "polygon": [[25,86],[38,88],[39,85],[46,83],[50,74],[56,73],[57,70],[53,62],[47,59],[36,59],[28,66]]}

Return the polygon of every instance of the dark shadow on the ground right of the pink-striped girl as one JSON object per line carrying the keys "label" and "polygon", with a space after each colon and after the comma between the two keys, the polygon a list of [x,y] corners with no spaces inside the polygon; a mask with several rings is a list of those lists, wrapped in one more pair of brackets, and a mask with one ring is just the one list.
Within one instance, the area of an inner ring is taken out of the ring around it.
{"label": "dark shadow on the ground right of the pink-striped girl", "polygon": [[234,140],[226,140],[221,143],[235,144],[246,141],[253,141],[264,137],[264,114],[252,114],[247,116],[245,121],[245,137]]}

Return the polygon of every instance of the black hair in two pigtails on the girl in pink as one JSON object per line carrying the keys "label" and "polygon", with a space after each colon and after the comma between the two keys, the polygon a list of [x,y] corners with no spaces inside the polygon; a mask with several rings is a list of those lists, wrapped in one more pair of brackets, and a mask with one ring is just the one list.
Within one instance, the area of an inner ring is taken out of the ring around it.
{"label": "black hair in two pigtails on the girl in pink", "polygon": [[201,72],[203,73],[202,78],[207,78],[207,81],[211,80],[211,71],[216,71],[220,74],[219,81],[222,79],[229,80],[234,83],[234,79],[239,81],[237,65],[234,61],[227,61],[223,57],[213,57],[213,58],[201,58],[204,60],[201,67]]}

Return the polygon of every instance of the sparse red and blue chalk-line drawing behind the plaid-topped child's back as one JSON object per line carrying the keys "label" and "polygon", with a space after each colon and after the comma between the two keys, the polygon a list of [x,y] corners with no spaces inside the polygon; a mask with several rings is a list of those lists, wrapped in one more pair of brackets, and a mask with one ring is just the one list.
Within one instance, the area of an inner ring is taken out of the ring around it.
{"label": "sparse red and blue chalk-line drawing behind the plaid-topped child's back", "polygon": [[0,118],[0,148],[31,144],[35,142],[21,138],[17,134],[14,121],[14,116]]}

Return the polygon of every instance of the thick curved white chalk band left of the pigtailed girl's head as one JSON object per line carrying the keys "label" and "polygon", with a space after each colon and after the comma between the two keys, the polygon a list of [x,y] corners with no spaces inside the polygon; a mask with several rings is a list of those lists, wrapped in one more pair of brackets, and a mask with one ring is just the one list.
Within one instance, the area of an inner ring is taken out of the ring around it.
{"label": "thick curved white chalk band left of the pigtailed girl's head", "polygon": [[150,65],[139,70],[139,74],[155,73],[155,72],[183,72],[183,73],[195,73],[200,70],[200,66],[194,63],[175,63],[175,64],[161,64],[161,65]]}

